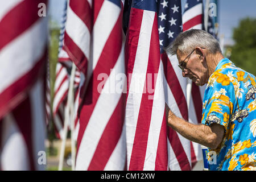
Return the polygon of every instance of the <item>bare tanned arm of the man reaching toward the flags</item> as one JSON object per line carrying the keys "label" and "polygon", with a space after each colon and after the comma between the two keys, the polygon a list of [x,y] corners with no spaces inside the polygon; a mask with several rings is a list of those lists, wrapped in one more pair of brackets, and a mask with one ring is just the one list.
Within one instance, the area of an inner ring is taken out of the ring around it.
{"label": "bare tanned arm of the man reaching toward the flags", "polygon": [[176,117],[166,105],[167,123],[172,129],[193,142],[215,149],[224,137],[224,126],[213,123],[210,126],[195,125]]}

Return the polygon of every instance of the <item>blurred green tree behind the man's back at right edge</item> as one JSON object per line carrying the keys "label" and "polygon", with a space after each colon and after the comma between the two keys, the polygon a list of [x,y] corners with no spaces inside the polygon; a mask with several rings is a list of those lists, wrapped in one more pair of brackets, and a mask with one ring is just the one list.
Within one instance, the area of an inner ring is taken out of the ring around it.
{"label": "blurred green tree behind the man's back at right edge", "polygon": [[256,19],[245,18],[233,30],[233,39],[230,59],[247,72],[256,75]]}

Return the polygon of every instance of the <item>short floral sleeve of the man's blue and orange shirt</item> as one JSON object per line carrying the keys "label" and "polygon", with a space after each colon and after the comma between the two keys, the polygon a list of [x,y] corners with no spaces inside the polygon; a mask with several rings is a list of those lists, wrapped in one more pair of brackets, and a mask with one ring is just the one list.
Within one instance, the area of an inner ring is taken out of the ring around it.
{"label": "short floral sleeve of the man's blue and orange shirt", "polygon": [[228,128],[229,118],[233,112],[234,88],[232,82],[217,82],[210,80],[207,85],[203,103],[202,124],[210,126],[217,123]]}

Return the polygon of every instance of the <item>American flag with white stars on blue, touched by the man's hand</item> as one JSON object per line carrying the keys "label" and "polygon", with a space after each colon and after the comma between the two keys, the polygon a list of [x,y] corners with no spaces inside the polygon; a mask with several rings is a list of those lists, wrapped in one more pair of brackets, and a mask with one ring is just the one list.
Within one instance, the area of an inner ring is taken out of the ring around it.
{"label": "American flag with white stars on blue, touched by the man's hand", "polygon": [[[187,80],[181,77],[176,55],[163,49],[181,30],[180,1],[133,1],[126,40],[129,170],[191,169],[191,142],[167,127],[164,115],[166,102],[176,115],[188,119]],[[150,82],[153,92],[147,87]]]}

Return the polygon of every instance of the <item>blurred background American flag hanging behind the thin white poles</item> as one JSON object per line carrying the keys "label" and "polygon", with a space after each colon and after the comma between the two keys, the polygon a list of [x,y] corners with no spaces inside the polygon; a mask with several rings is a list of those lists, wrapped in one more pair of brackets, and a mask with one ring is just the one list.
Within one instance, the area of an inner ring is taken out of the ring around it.
{"label": "blurred background American flag hanging behind the thin white poles", "polygon": [[[64,4],[63,19],[61,22],[60,29],[60,40],[59,40],[59,60],[56,64],[56,77],[54,84],[54,99],[53,99],[53,124],[58,138],[64,138],[64,119],[65,109],[67,106],[67,96],[70,82],[70,74],[72,61],[69,59],[67,52],[63,48],[65,23],[67,21],[67,1]],[[75,136],[77,136],[79,125],[77,125],[77,109],[79,100],[79,84],[80,84],[80,72],[76,69],[75,80],[74,80],[74,92],[75,92],[75,103],[74,103],[74,117],[75,119]],[[69,123],[70,124],[70,123]],[[76,137],[75,137],[76,140]]]}

